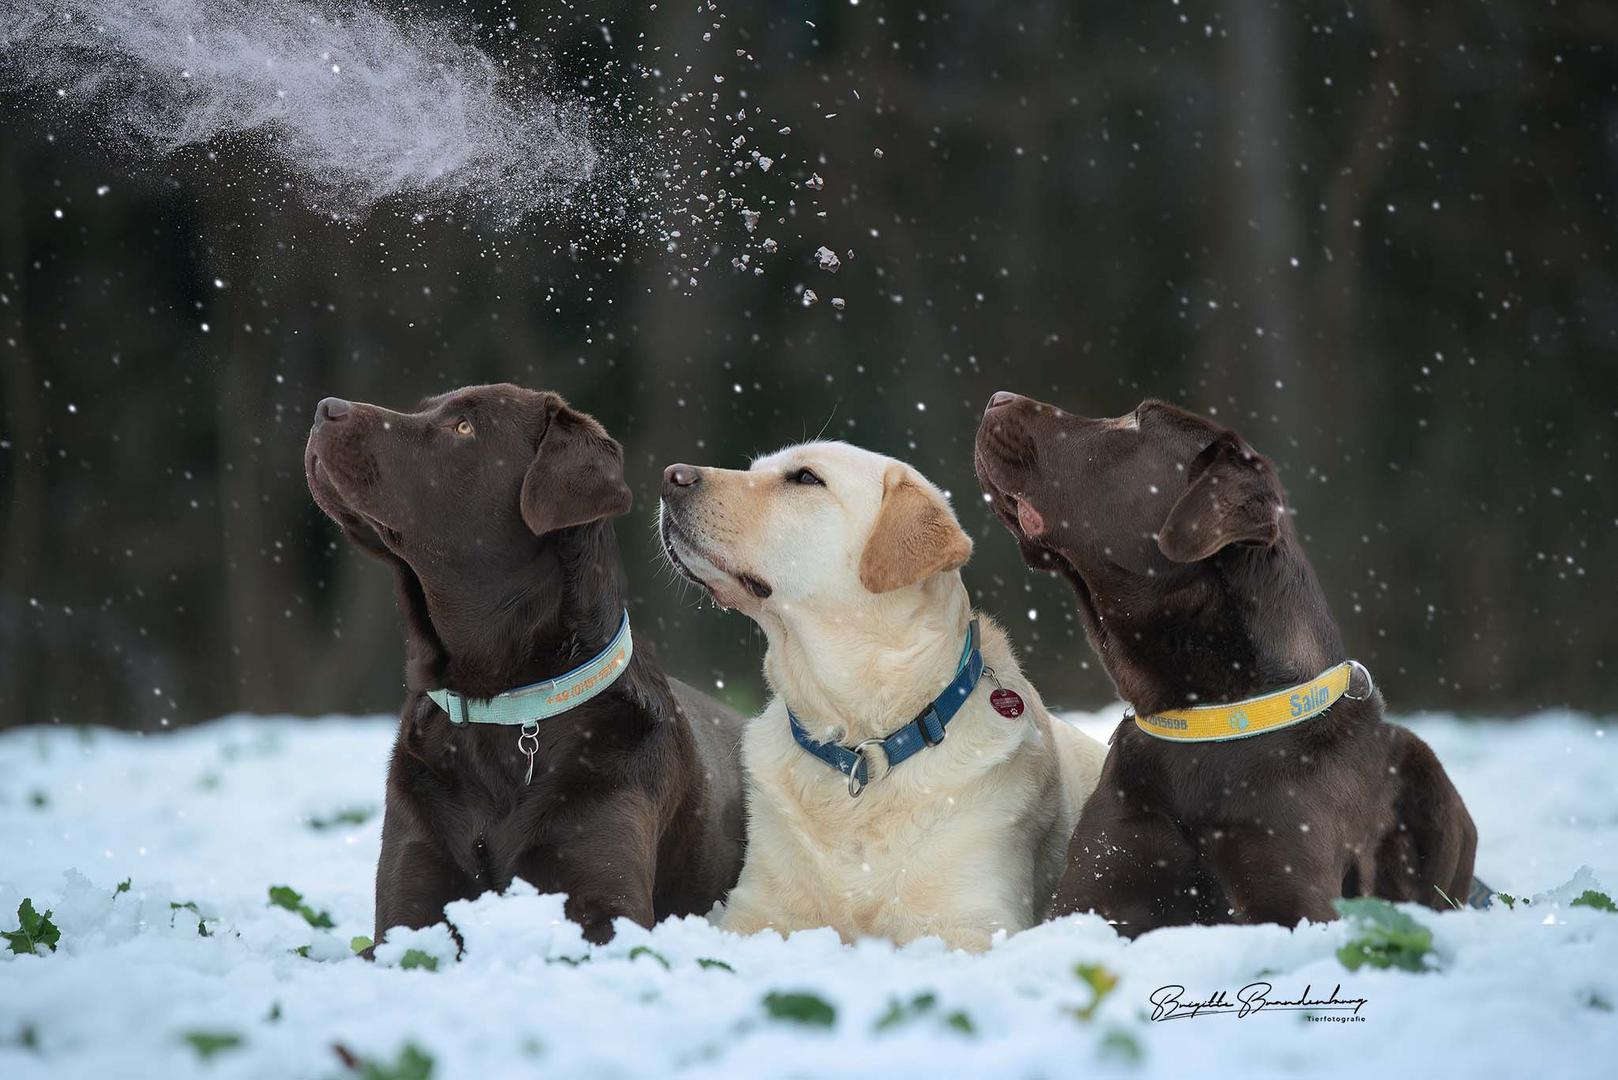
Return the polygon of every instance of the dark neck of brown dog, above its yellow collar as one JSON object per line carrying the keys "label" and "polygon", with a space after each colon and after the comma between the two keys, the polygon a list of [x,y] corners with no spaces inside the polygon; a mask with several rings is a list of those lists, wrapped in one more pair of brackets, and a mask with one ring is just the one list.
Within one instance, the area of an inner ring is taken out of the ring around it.
{"label": "dark neck of brown dog, above its yellow collar", "polygon": [[1097,648],[1139,714],[1225,704],[1317,677],[1346,659],[1314,570],[1283,536],[1186,572],[1150,610],[1092,589]]}

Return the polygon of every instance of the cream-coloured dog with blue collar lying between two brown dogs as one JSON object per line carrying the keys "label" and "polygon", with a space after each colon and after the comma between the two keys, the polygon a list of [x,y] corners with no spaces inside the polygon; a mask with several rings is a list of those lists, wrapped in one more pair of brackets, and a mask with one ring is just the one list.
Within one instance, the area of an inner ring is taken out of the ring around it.
{"label": "cream-coloured dog with blue collar lying between two brown dogs", "polygon": [[[1105,750],[1052,721],[1006,635],[982,627],[984,674],[943,742],[888,766],[866,746],[866,790],[794,742],[854,748],[914,719],[955,677],[974,619],[959,568],[972,542],[911,466],[811,442],[748,471],[673,465],[663,549],[764,628],[775,698],[743,742],[748,855],[725,928],[832,926],[845,941],[935,934],[985,949],[1039,921]],[[997,683],[1026,704],[990,706]]]}

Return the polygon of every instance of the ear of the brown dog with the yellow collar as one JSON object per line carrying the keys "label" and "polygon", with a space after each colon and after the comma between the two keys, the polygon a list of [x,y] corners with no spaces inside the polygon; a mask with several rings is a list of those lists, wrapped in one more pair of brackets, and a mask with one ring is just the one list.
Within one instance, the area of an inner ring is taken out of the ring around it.
{"label": "ear of the brown dog with the yellow collar", "polygon": [[1157,531],[1157,549],[1199,562],[1230,544],[1270,546],[1281,536],[1281,486],[1270,463],[1226,431],[1191,461],[1189,486]]}

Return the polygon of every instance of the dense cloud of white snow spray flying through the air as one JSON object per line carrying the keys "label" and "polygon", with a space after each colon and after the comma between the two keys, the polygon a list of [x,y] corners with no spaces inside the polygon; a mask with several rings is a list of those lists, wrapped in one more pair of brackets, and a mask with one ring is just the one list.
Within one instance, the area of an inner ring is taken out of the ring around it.
{"label": "dense cloud of white snow spray flying through the air", "polygon": [[332,212],[401,196],[515,223],[597,162],[581,112],[518,84],[443,23],[317,0],[6,8],[0,86],[52,94],[154,154],[251,136]]}

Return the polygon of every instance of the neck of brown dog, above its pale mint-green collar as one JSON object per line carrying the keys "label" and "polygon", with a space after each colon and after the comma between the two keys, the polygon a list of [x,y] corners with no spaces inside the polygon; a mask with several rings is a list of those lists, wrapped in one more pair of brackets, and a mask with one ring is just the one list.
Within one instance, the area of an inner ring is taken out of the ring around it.
{"label": "neck of brown dog, above its pale mint-green collar", "polygon": [[[414,586],[414,596],[411,583]],[[440,588],[401,576],[411,690],[485,698],[555,678],[612,641],[628,593],[607,521],[539,538],[531,559]]]}

